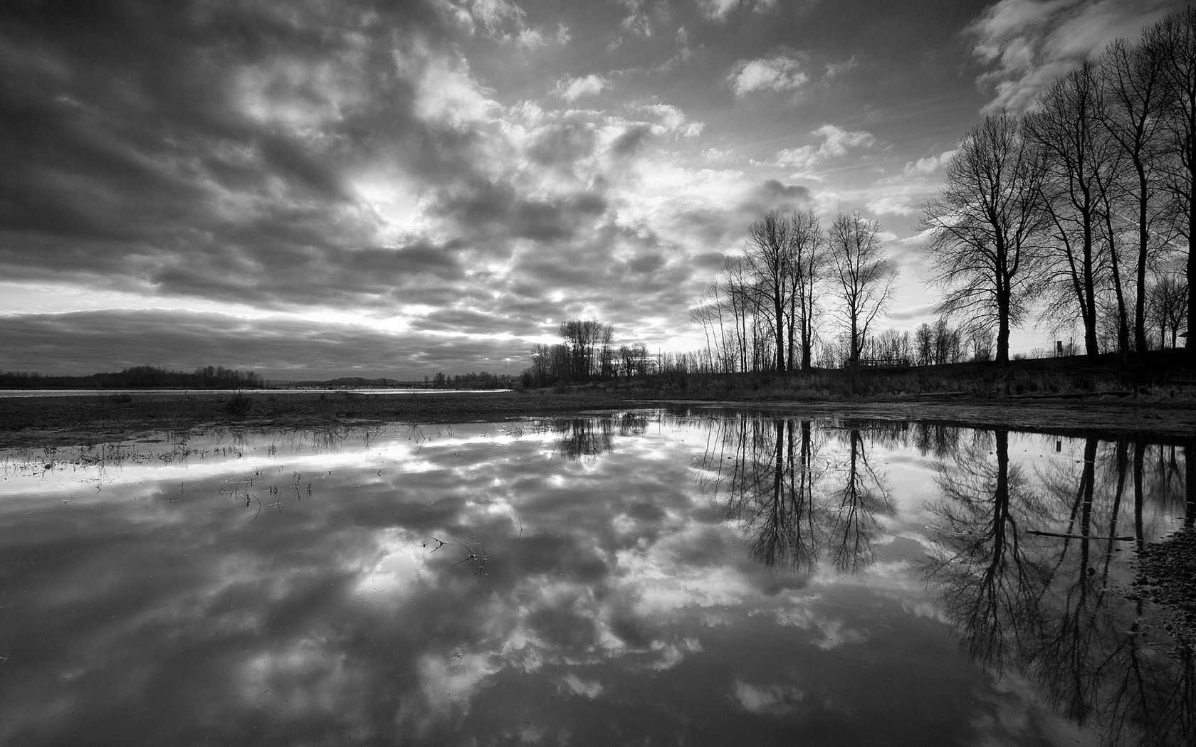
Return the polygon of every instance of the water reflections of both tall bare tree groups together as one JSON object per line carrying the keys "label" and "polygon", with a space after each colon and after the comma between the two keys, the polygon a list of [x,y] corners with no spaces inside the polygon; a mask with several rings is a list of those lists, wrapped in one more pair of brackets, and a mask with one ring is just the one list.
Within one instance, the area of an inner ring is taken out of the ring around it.
{"label": "water reflections of both tall bare tree groups together", "polygon": [[695,466],[757,562],[856,574],[893,515],[869,449],[915,447],[936,464],[921,573],[963,649],[995,676],[1030,675],[1054,710],[1097,722],[1109,743],[1196,743],[1196,659],[1145,622],[1122,561],[1159,535],[1148,515],[1196,520],[1191,451],[1088,437],[1078,459],[1032,467],[1011,461],[1009,440],[1005,429],[739,416],[712,422]]}

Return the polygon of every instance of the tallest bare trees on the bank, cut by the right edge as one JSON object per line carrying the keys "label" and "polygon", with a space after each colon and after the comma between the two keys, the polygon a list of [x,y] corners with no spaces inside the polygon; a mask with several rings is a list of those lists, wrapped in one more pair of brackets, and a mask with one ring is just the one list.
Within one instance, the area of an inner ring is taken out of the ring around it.
{"label": "tallest bare trees on the bank, cut by the right edge", "polygon": [[1157,320],[1196,306],[1196,11],[1112,43],[1027,115],[975,125],[945,182],[921,226],[941,310],[995,330],[999,361],[1031,312],[1078,324],[1088,355],[1103,329],[1106,348],[1147,350],[1152,298]]}

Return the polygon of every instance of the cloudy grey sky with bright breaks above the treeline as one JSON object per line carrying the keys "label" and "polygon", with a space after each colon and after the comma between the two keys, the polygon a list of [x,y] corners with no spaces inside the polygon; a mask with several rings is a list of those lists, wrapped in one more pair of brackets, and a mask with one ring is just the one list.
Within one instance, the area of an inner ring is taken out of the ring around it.
{"label": "cloudy grey sky with bright breaks above the treeline", "polygon": [[5,2],[0,371],[518,373],[569,318],[696,349],[748,225],[807,207],[880,222],[913,329],[965,130],[1183,6]]}

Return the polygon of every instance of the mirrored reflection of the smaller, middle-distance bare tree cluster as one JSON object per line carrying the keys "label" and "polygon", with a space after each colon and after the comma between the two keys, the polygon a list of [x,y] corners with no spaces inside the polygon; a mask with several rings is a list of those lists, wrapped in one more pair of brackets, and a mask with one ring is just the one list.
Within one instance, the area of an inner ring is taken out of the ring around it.
{"label": "mirrored reflection of the smaller, middle-distance bare tree cluster", "polygon": [[[844,453],[829,453],[831,446]],[[878,516],[891,514],[892,503],[859,425],[831,439],[810,420],[724,418],[697,466],[703,489],[726,501],[727,515],[751,537],[757,562],[813,573],[829,557],[838,570],[858,573],[875,559]]]}

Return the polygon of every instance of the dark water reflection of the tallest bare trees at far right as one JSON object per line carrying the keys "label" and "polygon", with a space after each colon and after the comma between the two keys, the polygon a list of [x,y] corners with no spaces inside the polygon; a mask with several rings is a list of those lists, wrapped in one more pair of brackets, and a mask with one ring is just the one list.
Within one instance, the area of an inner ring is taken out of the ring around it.
{"label": "dark water reflection of the tallest bare trees at far right", "polygon": [[[1110,539],[1146,541],[1148,496],[1173,501],[1173,453],[1168,463],[1167,447],[1090,437],[1078,465],[1056,460],[1031,478],[1009,464],[1008,441],[975,431],[938,470],[923,571],[964,649],[997,674],[1031,674],[1058,712],[1100,722],[1110,743],[1196,742],[1192,651],[1166,650],[1141,624],[1143,602],[1117,590],[1129,578],[1113,561],[1129,543]],[[1027,534],[1052,526],[1057,535]]]}

